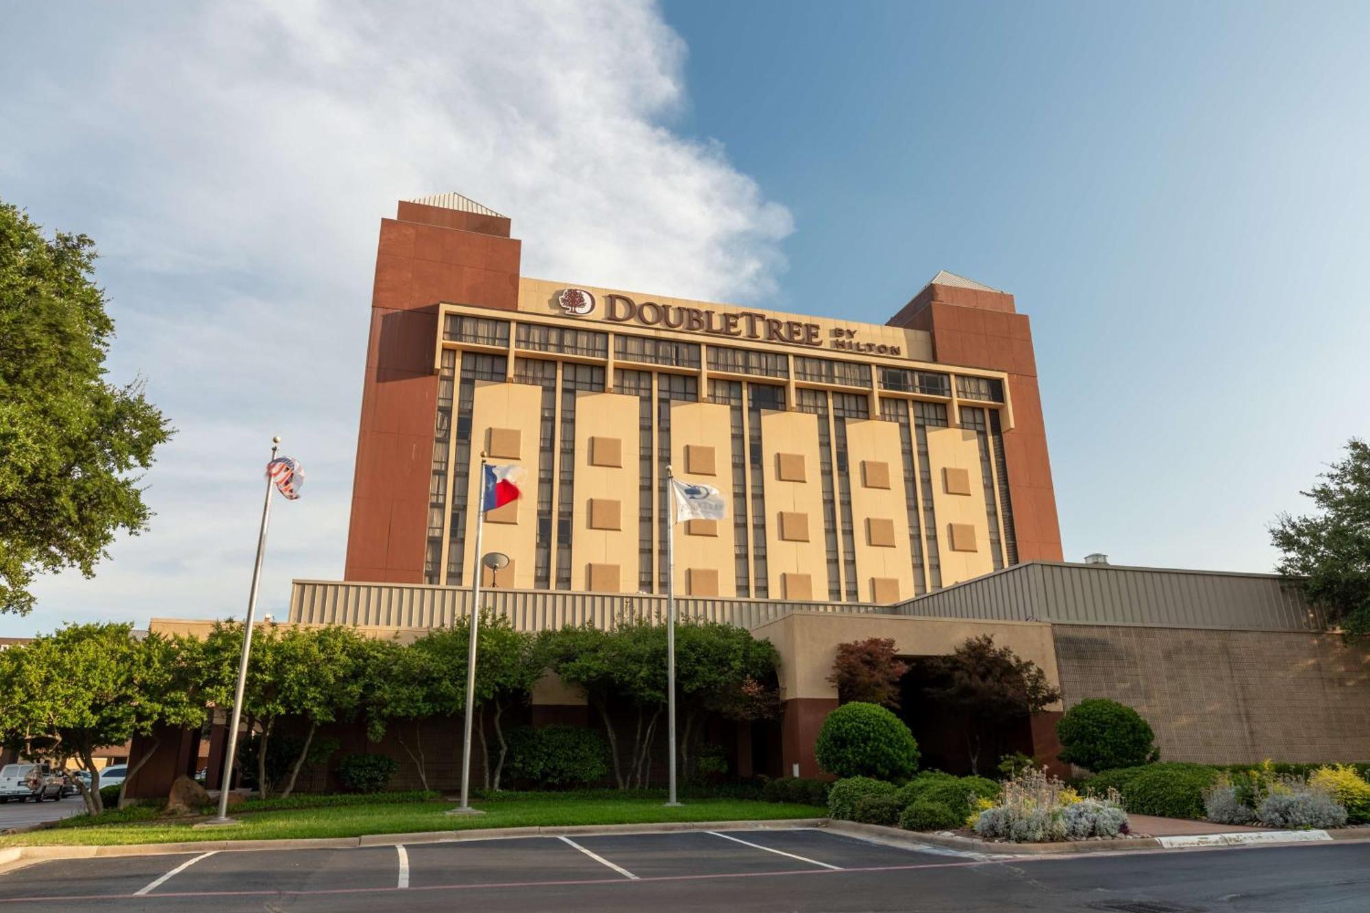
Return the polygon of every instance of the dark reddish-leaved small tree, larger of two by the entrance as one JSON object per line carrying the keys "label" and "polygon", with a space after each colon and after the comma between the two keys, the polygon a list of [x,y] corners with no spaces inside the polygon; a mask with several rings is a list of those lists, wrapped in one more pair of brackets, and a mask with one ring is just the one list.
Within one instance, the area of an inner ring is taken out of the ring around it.
{"label": "dark reddish-leaved small tree, larger of two by the entrance", "polygon": [[970,772],[980,773],[981,747],[996,740],[1014,721],[1060,701],[1047,673],[1010,647],[996,647],[993,635],[970,637],[949,657],[929,661],[936,680],[925,694],[966,721]]}

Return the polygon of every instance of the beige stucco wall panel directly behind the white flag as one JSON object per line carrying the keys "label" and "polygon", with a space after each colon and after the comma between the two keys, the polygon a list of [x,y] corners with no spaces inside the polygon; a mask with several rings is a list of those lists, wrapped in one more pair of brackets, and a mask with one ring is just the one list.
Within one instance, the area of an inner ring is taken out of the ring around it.
{"label": "beige stucco wall panel directly behind the white flag", "polygon": [[[637,400],[633,400],[634,409]],[[685,447],[712,447],[714,474],[686,472]],[[712,485],[723,495],[729,514],[733,509],[733,437],[729,409],[718,403],[671,403],[671,467],[685,481]],[[719,596],[737,595],[737,573],[733,566],[733,517],[715,524],[717,536],[692,536],[686,524],[675,526],[675,592],[689,591],[689,569],[703,568],[718,572]],[[704,594],[708,595],[708,594]]]}

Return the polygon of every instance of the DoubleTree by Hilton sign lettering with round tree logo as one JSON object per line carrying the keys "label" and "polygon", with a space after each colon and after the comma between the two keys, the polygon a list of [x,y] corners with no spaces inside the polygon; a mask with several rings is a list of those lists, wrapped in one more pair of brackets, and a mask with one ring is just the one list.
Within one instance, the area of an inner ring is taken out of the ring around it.
{"label": "DoubleTree by Hilton sign lettering with round tree logo", "polygon": [[[556,296],[556,303],[571,317],[589,317],[597,302],[595,295],[582,288],[564,288]],[[900,345],[888,343],[862,343],[856,330],[833,326],[827,336],[818,324],[801,321],[781,321],[754,311],[715,311],[701,307],[678,304],[658,304],[656,302],[634,302],[626,295],[606,295],[603,319],[614,324],[636,324],[685,333],[707,333],[710,336],[730,336],[733,339],[754,339],[763,343],[786,343],[790,345],[811,345],[833,348],[844,352],[871,352],[874,355],[900,355]]]}

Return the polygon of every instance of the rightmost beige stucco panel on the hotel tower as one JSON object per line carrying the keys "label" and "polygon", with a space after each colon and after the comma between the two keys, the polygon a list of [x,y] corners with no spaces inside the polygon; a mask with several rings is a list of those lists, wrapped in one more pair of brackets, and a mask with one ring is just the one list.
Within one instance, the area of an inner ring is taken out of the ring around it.
{"label": "rightmost beige stucco panel on the hotel tower", "polygon": [[[941,555],[943,585],[988,574],[995,569],[989,552],[989,521],[985,518],[985,487],[980,469],[975,432],[960,428],[929,428],[927,456],[933,470],[933,510],[937,514],[937,551]],[[964,469],[970,476],[969,495],[948,495],[943,469]],[[952,551],[951,524],[975,528],[975,551]]]}

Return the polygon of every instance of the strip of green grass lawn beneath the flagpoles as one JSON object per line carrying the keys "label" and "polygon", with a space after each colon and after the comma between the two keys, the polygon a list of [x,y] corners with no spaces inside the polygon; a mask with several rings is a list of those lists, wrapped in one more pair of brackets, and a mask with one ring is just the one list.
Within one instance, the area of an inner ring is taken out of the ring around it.
{"label": "strip of green grass lawn beneath the flagpoles", "polygon": [[[303,796],[301,796],[303,798]],[[327,796],[318,796],[327,799]],[[270,805],[270,803],[267,803]],[[445,799],[421,798],[407,802],[353,802],[336,806],[252,810],[252,803],[232,809],[242,823],[237,827],[193,828],[193,821],[169,823],[138,816],[126,809],[114,813],[123,820],[108,824],[71,825],[0,836],[0,847],[53,844],[170,843],[181,840],[263,840],[289,838],[360,836],[363,833],[407,833],[416,831],[466,831],[471,828],[516,828],[567,824],[648,824],[656,821],[760,821],[826,817],[827,810],[812,805],[786,805],[755,799],[686,799],[678,809],[662,807],[659,796],[578,796],[515,794],[478,799],[478,816],[444,814],[456,806]],[[141,809],[140,809],[141,810]],[[151,812],[149,812],[151,813]]]}

